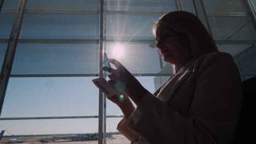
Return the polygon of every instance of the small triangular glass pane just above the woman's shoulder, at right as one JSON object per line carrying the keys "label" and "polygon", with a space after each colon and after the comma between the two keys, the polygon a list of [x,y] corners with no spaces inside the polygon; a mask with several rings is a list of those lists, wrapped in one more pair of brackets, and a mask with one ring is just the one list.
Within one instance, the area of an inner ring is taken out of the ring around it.
{"label": "small triangular glass pane just above the woman's shoulder, at right", "polygon": [[227,52],[233,57],[246,50],[251,45],[219,45],[218,49],[221,52]]}

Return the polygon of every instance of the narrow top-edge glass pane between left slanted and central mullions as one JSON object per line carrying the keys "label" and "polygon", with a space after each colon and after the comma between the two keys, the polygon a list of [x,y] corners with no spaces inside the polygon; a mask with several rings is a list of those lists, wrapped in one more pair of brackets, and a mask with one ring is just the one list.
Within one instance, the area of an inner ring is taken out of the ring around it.
{"label": "narrow top-edge glass pane between left slanted and central mullions", "polygon": [[99,10],[100,0],[28,0],[27,9],[36,10]]}

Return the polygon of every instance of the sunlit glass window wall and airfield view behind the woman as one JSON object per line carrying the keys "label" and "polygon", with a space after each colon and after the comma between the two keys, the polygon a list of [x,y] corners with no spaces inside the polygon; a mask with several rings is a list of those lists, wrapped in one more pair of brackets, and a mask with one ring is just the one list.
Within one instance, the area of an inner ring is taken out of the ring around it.
{"label": "sunlit glass window wall and airfield view behind the woman", "polygon": [[242,81],[256,75],[256,0],[0,2],[0,143],[130,143],[92,80],[107,55],[154,93],[173,73],[152,33],[168,11],[199,17]]}

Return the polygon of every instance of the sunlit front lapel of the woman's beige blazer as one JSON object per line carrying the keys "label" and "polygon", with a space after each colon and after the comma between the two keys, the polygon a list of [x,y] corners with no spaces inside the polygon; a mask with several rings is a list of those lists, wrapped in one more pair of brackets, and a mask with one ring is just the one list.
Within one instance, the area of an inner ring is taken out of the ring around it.
{"label": "sunlit front lapel of the woman's beige blazer", "polygon": [[179,72],[172,78],[172,80],[168,81],[164,87],[160,87],[160,89],[156,91],[159,91],[157,95],[159,99],[166,103],[171,100],[179,86],[181,86],[184,80],[186,80],[187,77],[193,72],[195,60],[195,58],[191,59],[187,64],[184,65],[181,70],[179,70]]}

